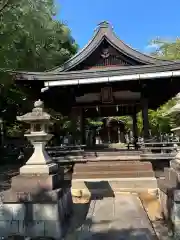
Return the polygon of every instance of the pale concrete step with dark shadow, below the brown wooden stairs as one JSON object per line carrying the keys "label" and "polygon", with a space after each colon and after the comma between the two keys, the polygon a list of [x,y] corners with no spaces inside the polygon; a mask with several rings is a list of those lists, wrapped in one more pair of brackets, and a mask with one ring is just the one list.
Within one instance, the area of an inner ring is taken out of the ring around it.
{"label": "pale concrete step with dark shadow, below the brown wooden stairs", "polygon": [[75,179],[72,181],[72,195],[81,191],[82,195],[115,195],[119,192],[157,192],[155,177],[147,178],[111,178],[111,179]]}

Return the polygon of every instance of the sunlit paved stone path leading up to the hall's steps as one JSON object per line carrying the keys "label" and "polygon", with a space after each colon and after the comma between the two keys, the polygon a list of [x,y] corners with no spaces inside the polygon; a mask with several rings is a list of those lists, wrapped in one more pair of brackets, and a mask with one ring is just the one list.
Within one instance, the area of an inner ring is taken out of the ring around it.
{"label": "sunlit paved stone path leading up to the hall's steps", "polygon": [[65,240],[154,240],[152,225],[136,195],[74,204],[74,217]]}

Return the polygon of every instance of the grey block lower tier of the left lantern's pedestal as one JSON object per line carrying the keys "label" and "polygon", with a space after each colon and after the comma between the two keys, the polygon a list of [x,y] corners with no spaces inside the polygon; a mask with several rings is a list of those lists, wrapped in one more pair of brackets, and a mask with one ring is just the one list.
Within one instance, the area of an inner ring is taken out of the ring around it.
{"label": "grey block lower tier of the left lantern's pedestal", "polygon": [[24,203],[4,201],[0,205],[0,237],[21,235],[60,239],[71,212],[70,189],[63,191],[57,201],[50,199]]}

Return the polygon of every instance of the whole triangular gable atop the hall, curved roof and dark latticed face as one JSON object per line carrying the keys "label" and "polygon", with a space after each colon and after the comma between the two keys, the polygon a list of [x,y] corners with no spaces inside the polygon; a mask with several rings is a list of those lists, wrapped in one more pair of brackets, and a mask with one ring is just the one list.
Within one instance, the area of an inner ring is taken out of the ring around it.
{"label": "whole triangular gable atop the hall, curved roof and dark latticed face", "polygon": [[165,62],[168,61],[156,59],[132,49],[115,35],[109,23],[102,22],[91,41],[82,50],[62,66],[48,72],[67,72],[113,66],[155,65]]}

